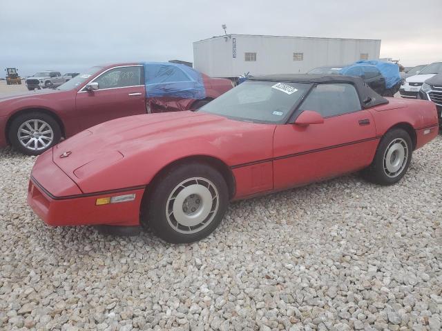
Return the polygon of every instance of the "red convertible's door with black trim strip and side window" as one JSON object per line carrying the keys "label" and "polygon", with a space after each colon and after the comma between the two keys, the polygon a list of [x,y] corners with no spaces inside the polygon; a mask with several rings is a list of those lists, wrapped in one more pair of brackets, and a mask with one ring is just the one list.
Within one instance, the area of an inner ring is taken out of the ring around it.
{"label": "red convertible's door with black trim strip and side window", "polygon": [[317,85],[295,116],[313,110],[324,123],[278,125],[273,138],[273,184],[276,190],[336,177],[365,168],[376,151],[372,114],[361,109],[349,83]]}

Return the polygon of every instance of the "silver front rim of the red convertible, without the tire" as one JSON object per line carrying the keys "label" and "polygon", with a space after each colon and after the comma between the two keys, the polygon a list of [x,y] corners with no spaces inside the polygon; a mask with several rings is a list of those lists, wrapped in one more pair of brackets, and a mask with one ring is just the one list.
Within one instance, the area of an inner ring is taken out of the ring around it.
{"label": "silver front rim of the red convertible, without the tire", "polygon": [[189,178],[176,185],[169,195],[166,219],[177,232],[199,232],[213,221],[219,204],[218,189],[209,179]]}

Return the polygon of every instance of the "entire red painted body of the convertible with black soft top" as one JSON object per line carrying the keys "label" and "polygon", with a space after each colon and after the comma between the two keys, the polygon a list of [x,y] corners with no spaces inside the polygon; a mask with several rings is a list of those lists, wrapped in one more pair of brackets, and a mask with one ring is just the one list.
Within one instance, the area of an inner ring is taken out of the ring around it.
{"label": "entire red painted body of the convertible with black soft top", "polygon": [[[403,124],[414,128],[416,148],[430,141],[438,134],[434,104],[390,99],[310,126],[249,123],[204,112],[125,117],[42,154],[32,170],[28,203],[51,225],[138,225],[143,192],[174,161],[209,157],[224,163],[234,182],[231,199],[242,199],[365,168],[383,134]],[[54,183],[52,173],[60,171],[66,177]],[[130,193],[135,201],[95,205],[99,197]]]}

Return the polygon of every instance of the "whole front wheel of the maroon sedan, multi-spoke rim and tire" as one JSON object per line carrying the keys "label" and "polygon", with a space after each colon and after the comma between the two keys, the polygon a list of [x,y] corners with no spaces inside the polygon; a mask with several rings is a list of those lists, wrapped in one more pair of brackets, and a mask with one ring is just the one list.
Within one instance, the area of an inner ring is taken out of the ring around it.
{"label": "whole front wheel of the maroon sedan, multi-spoke rim and tire", "polygon": [[26,155],[39,155],[61,138],[60,127],[48,114],[30,112],[11,123],[9,140],[12,146]]}

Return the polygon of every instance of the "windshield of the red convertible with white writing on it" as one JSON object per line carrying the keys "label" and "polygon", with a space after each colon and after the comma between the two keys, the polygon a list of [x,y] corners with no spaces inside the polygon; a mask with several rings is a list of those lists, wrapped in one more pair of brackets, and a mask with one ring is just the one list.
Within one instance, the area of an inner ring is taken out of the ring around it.
{"label": "windshield of the red convertible with white writing on it", "polygon": [[285,123],[310,86],[308,83],[245,81],[199,111],[238,121]]}

